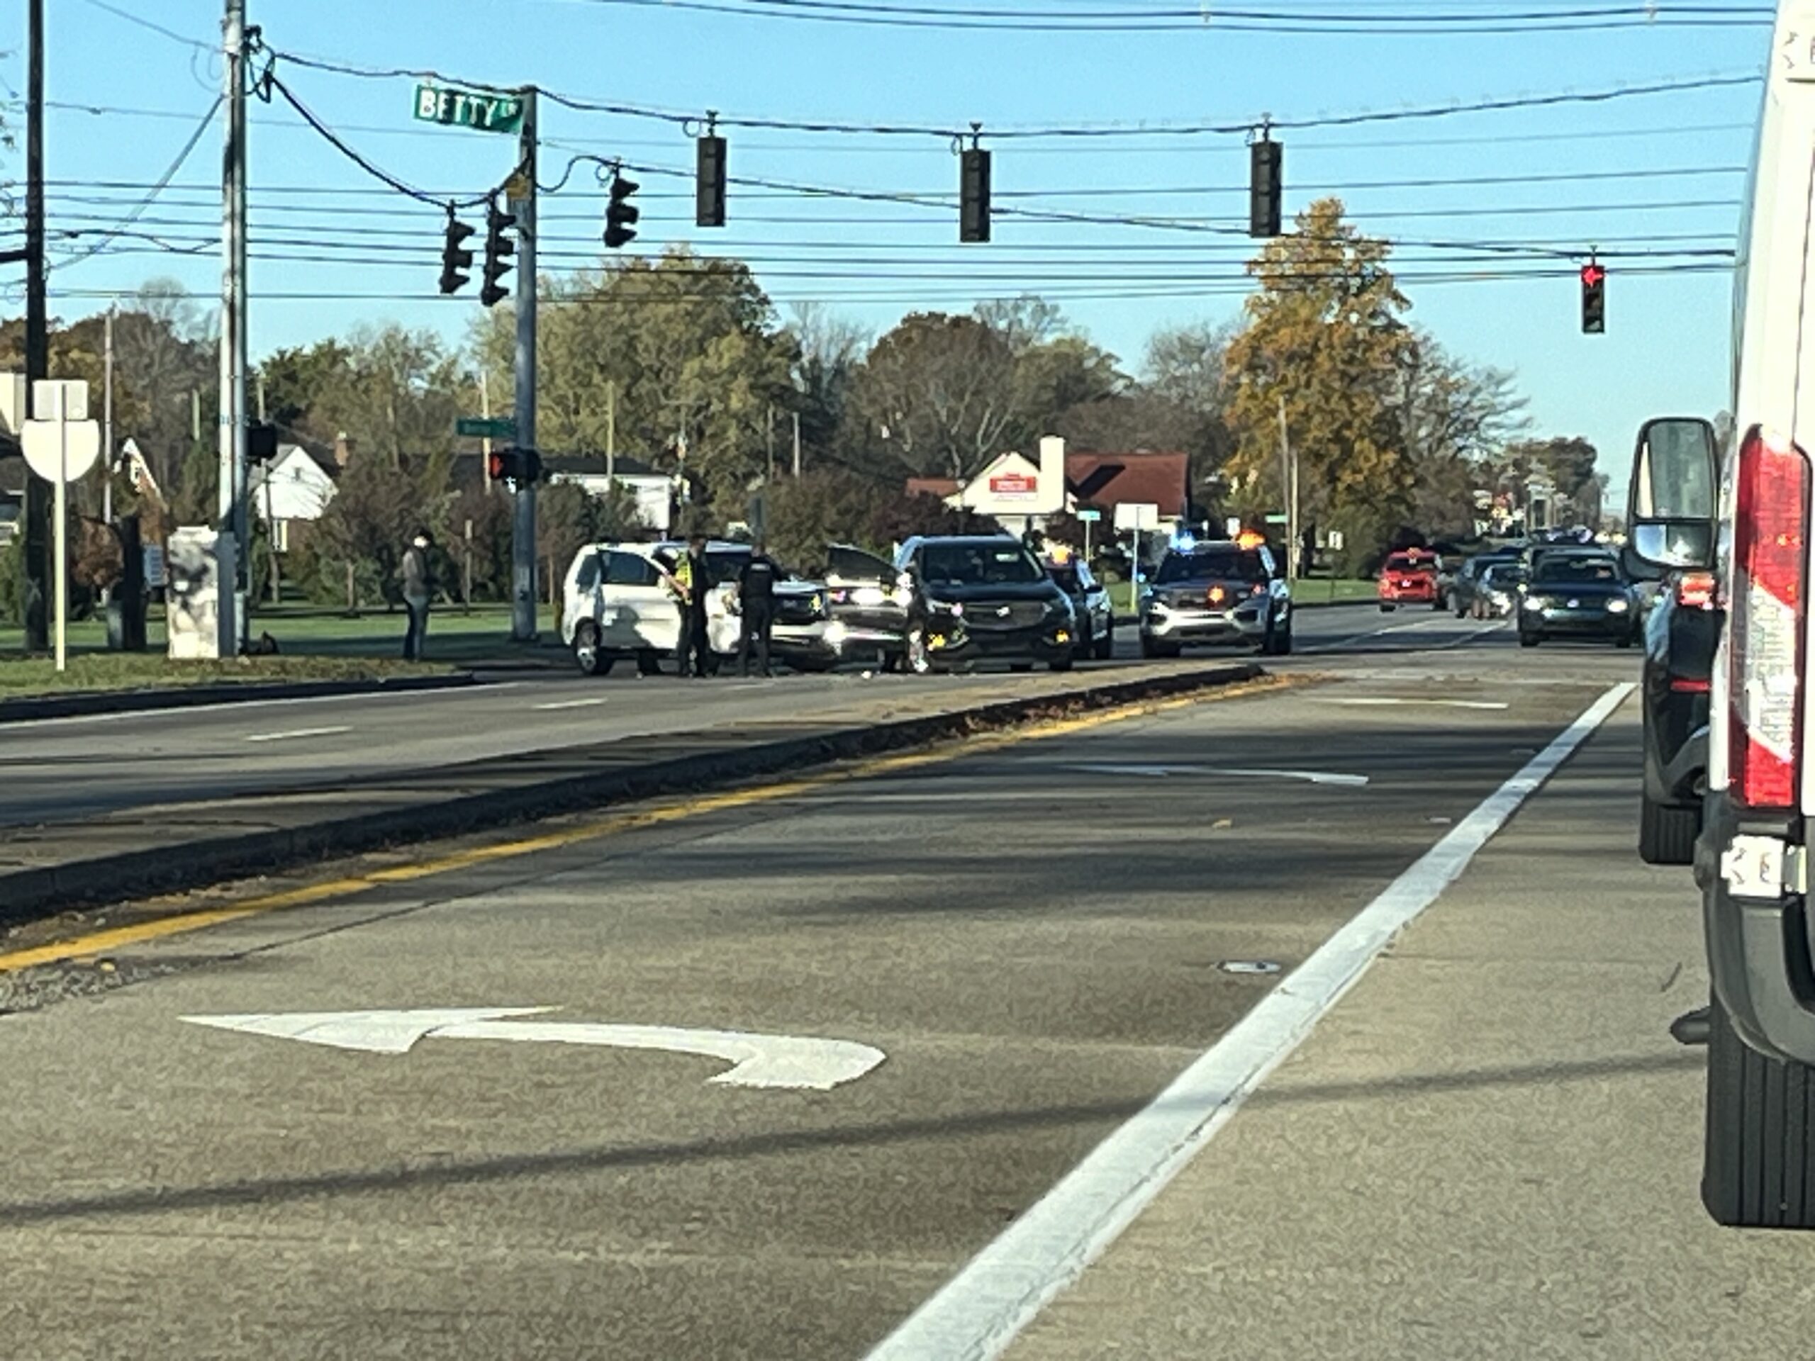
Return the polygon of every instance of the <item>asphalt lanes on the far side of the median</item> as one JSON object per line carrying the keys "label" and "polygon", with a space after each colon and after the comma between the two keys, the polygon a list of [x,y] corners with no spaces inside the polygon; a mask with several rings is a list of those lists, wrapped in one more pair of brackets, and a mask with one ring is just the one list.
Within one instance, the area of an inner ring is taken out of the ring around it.
{"label": "asphalt lanes on the far side of the median", "polygon": [[[1307,655],[1410,648],[1457,641],[1476,628],[1430,612],[1307,610],[1298,621],[1298,642]],[[1147,664],[1133,655],[1133,630],[1122,630],[1118,644],[1116,661],[1093,662],[1085,670]],[[966,686],[975,688],[976,680],[862,673],[682,680],[672,675],[637,679],[633,670],[621,668],[603,680],[554,673],[508,677],[470,690],[5,724],[0,726],[0,827],[332,788],[372,775],[615,737],[791,719],[802,711]]]}

